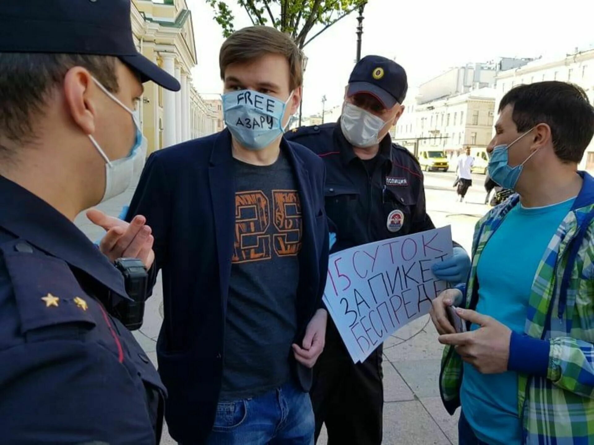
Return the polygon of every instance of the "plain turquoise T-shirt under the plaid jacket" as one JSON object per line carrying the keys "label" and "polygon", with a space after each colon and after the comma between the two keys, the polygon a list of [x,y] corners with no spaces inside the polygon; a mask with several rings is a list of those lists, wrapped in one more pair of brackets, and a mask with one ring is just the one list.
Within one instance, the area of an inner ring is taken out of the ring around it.
{"label": "plain turquoise T-shirt under the plaid jacket", "polygon": [[[524,332],[528,296],[542,252],[574,201],[531,208],[520,204],[511,209],[478,264],[478,313],[488,314],[514,332]],[[478,328],[472,325],[471,330]],[[520,444],[517,373],[481,374],[465,363],[463,375],[460,398],[476,436],[489,444]]]}

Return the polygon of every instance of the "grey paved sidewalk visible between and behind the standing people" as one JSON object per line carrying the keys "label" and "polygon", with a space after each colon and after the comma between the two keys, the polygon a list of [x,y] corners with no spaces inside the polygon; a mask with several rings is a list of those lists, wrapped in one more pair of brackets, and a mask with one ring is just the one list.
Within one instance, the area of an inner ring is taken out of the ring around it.
{"label": "grey paved sidewalk visible between and behind the standing people", "polygon": [[[133,190],[98,206],[117,216],[131,199]],[[435,225],[451,224],[453,239],[470,250],[472,233],[478,217],[486,211],[480,193],[469,193],[470,204],[457,203],[453,190],[427,190],[429,214]],[[84,215],[75,223],[91,240],[99,239],[103,230],[95,227]],[[162,322],[162,287],[157,282],[153,297],[147,301],[143,327],[134,332],[156,365],[156,339]],[[457,415],[450,417],[441,405],[438,389],[441,345],[428,316],[398,330],[384,344],[384,444],[453,445],[457,444]],[[175,444],[167,431],[162,444]],[[326,445],[323,435],[318,441]],[[345,444],[350,445],[350,444]],[[353,444],[356,445],[356,444]]]}

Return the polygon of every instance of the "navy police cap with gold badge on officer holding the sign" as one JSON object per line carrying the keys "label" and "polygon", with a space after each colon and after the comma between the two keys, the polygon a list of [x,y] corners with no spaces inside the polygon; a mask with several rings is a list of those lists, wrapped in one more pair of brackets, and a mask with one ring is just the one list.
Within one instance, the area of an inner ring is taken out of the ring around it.
{"label": "navy police cap with gold badge on officer holding the sign", "polygon": [[406,71],[398,63],[381,56],[365,56],[350,73],[347,96],[367,93],[376,97],[384,107],[402,104],[408,83]]}

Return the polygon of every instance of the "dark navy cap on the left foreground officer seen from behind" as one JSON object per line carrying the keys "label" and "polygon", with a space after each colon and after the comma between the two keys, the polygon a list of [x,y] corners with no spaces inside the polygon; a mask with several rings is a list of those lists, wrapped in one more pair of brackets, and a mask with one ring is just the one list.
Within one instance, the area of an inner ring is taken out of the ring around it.
{"label": "dark navy cap on the left foreground officer seen from behind", "polygon": [[179,82],[141,55],[132,39],[131,0],[2,0],[0,52],[116,56],[140,74],[178,91]]}

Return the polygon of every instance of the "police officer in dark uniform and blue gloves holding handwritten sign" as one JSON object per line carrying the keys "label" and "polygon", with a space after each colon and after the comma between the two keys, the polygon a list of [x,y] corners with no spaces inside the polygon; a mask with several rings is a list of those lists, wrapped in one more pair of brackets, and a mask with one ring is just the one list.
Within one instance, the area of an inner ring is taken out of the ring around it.
{"label": "police officer in dark uniform and blue gloves holding handwritten sign", "polygon": [[[339,123],[290,131],[287,138],[326,162],[326,213],[336,233],[331,252],[434,228],[426,213],[418,161],[388,132],[402,115],[407,91],[402,66],[367,56],[350,75]],[[470,260],[461,247],[434,273],[463,281]],[[382,347],[353,364],[328,320],[326,347],[314,368],[311,390],[316,438],[323,423],[328,444],[380,444],[384,402]]]}

